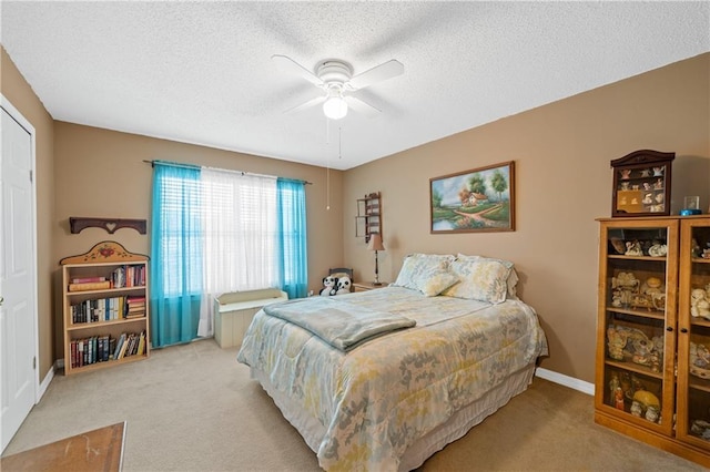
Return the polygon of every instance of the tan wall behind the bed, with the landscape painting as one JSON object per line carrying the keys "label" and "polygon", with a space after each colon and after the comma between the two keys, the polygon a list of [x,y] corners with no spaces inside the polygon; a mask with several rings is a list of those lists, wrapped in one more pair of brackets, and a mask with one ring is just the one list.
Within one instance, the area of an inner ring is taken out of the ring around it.
{"label": "tan wall behind the bed, with the landscape painting", "polygon": [[[355,199],[381,191],[381,279],[393,280],[414,252],[513,260],[519,294],[548,336],[542,367],[592,382],[595,218],[610,216],[609,162],[640,148],[676,152],[673,213],[683,195],[700,195],[707,209],[709,84],[710,54],[703,54],[351,170],[344,179],[346,264],[358,279],[374,277],[373,254],[347,235],[354,234]],[[429,178],[506,161],[516,163],[516,232],[429,234]]]}

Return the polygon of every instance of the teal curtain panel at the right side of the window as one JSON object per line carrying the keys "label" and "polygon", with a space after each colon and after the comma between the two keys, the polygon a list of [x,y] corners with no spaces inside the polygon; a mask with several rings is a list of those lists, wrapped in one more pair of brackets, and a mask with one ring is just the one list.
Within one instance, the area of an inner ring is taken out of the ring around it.
{"label": "teal curtain panel at the right side of the window", "polygon": [[278,269],[282,290],[288,298],[308,293],[308,253],[306,245],[306,192],[303,181],[276,181]]}

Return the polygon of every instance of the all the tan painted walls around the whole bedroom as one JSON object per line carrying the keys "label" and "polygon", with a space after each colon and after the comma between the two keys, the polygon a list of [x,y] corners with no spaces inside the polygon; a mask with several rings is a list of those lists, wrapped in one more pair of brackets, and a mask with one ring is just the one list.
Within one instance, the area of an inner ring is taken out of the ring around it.
{"label": "all the tan painted walls around the whole bedroom", "polygon": [[[70,216],[146,218],[151,167],[169,160],[282,175],[307,187],[311,288],[329,266],[374,276],[374,256],[355,234],[355,201],[383,194],[381,278],[396,277],[410,252],[484,254],[516,263],[519,293],[536,307],[550,341],[542,367],[594,379],[597,223],[611,206],[609,161],[638,148],[673,151],[672,207],[683,195],[710,205],[710,54],[490,123],[345,173],[277,160],[52,122],[4,49],[2,94],[37,130],[40,372],[61,358],[61,315],[52,315],[58,261],[115,239],[149,253],[132,229],[69,233]],[[517,230],[429,234],[429,178],[516,162]],[[407,172],[402,172],[406,168]],[[150,222],[149,222],[150,223]],[[342,243],[344,242],[344,243]],[[343,246],[344,245],[344,246]]]}

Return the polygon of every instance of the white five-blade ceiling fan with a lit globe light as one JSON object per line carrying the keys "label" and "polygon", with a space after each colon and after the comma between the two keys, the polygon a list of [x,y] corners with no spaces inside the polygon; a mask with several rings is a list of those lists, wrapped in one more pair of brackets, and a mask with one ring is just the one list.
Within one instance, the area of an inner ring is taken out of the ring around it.
{"label": "white five-blade ceiling fan with a lit globe light", "polygon": [[326,59],[318,62],[315,73],[313,73],[286,55],[274,54],[271,58],[282,71],[300,75],[324,92],[321,96],[286,110],[286,113],[323,103],[323,113],[331,120],[345,117],[348,106],[368,117],[377,115],[381,110],[351,95],[351,93],[404,73],[404,65],[395,59],[353,76],[352,65],[339,59]]}

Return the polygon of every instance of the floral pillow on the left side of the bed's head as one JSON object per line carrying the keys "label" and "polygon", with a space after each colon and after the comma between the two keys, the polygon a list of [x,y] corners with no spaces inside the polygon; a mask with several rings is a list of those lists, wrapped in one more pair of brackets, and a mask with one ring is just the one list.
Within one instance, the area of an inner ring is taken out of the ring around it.
{"label": "floral pillow on the left side of the bed's head", "polygon": [[418,290],[427,297],[439,295],[458,281],[449,270],[454,256],[410,254],[404,259],[394,286]]}

